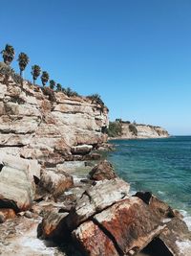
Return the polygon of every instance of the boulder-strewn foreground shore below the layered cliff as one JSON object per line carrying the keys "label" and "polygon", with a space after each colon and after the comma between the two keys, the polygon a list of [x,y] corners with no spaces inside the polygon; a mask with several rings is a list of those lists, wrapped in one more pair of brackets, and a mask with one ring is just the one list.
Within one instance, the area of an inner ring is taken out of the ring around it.
{"label": "boulder-strewn foreground shore below the layered cliff", "polygon": [[190,255],[182,244],[191,232],[180,213],[150,192],[131,196],[108,161],[93,168],[81,162],[80,176],[74,163],[40,176],[35,160],[12,163],[15,156],[1,156],[1,255]]}

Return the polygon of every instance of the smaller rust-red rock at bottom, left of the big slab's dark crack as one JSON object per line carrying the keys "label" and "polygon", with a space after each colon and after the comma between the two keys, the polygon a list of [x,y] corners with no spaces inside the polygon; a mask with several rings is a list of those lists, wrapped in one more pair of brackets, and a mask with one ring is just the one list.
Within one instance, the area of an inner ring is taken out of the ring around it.
{"label": "smaller rust-red rock at bottom, left of the big slab's dark crack", "polygon": [[82,223],[73,232],[73,238],[83,255],[90,256],[118,256],[115,244],[110,238],[93,222]]}

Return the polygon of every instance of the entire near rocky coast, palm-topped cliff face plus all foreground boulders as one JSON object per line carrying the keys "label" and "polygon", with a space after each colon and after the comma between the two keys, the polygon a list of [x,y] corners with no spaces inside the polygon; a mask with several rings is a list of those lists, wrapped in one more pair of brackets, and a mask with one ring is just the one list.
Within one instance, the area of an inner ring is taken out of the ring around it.
{"label": "entire near rocky coast, palm-topped cliff face plus all foreground boulders", "polygon": [[0,255],[190,256],[180,213],[100,161],[105,105],[0,65],[0,119]]}

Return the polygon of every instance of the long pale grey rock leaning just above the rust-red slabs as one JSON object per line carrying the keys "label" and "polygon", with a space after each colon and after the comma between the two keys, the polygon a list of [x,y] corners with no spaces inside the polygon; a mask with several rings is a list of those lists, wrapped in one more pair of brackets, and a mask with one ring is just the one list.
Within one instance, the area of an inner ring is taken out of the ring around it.
{"label": "long pale grey rock leaning just above the rust-red slabs", "polygon": [[98,181],[77,200],[74,211],[70,213],[69,227],[73,229],[79,223],[95,215],[97,211],[128,197],[129,189],[129,184],[120,178]]}

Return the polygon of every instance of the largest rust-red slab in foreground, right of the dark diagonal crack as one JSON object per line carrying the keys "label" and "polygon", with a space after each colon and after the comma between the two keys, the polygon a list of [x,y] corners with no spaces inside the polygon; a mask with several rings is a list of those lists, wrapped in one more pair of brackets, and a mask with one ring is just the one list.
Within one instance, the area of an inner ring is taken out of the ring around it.
{"label": "largest rust-red slab in foreground, right of the dark diagonal crack", "polygon": [[126,198],[94,216],[123,254],[136,255],[165,227],[139,198]]}

